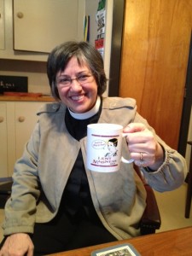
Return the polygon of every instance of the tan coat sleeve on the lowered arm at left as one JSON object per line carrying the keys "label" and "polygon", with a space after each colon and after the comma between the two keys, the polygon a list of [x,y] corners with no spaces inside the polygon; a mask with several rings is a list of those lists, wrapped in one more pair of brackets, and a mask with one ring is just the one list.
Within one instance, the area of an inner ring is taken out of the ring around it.
{"label": "tan coat sleeve on the lowered arm at left", "polygon": [[12,194],[5,206],[4,236],[32,233],[40,186],[38,183],[38,124],[22,157],[15,163]]}

